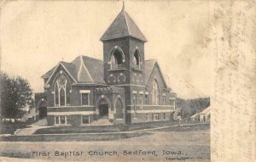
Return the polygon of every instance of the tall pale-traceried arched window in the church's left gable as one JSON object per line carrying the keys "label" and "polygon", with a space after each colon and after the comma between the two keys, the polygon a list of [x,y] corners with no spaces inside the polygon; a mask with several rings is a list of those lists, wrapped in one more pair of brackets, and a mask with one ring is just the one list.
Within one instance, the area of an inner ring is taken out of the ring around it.
{"label": "tall pale-traceried arched window in the church's left gable", "polygon": [[64,75],[55,82],[55,106],[66,106],[70,103],[71,86]]}

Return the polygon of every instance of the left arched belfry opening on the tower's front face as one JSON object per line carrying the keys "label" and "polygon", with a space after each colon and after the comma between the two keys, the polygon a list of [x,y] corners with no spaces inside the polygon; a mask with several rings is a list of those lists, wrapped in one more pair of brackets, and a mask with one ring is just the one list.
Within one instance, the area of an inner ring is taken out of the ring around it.
{"label": "left arched belfry opening on the tower's front face", "polygon": [[115,47],[111,53],[110,58],[110,69],[120,69],[124,67],[123,62],[125,62],[125,55],[122,52],[121,48]]}

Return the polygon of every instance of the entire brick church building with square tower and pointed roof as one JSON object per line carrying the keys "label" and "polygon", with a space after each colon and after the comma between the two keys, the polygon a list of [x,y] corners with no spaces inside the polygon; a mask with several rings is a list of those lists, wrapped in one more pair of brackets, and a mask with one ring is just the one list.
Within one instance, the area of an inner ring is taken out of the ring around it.
{"label": "entire brick church building with square tower and pointed roof", "polygon": [[49,126],[171,120],[176,93],[160,64],[144,59],[147,39],[124,6],[100,41],[103,61],[81,55],[42,76],[45,98],[38,100],[38,118],[47,118]]}

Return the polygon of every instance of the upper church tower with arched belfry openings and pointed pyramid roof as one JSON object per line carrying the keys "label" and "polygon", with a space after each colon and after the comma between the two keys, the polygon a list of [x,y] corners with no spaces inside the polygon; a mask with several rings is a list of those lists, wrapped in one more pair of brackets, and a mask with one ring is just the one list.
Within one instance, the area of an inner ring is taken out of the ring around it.
{"label": "upper church tower with arched belfry openings and pointed pyramid roof", "polygon": [[100,40],[103,42],[104,80],[108,85],[143,85],[147,39],[125,12],[125,3]]}

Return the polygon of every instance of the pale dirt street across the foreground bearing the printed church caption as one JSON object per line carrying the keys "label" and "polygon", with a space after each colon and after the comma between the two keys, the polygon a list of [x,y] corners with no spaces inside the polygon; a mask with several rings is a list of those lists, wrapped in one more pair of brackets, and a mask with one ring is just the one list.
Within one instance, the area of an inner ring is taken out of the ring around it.
{"label": "pale dirt street across the foreground bearing the printed church caption", "polygon": [[[140,132],[142,133],[142,132]],[[80,134],[82,136],[82,134]],[[0,142],[1,156],[21,159],[55,159],[86,161],[210,161],[210,133],[197,131],[153,131],[130,138],[116,138],[108,142]],[[157,155],[124,154],[125,151],[155,151]],[[56,156],[55,152],[83,152],[79,156]],[[116,151],[117,155],[91,155],[91,152]],[[49,152],[49,156],[33,156],[32,152]],[[163,154],[179,152],[180,154]],[[11,160],[13,161],[13,160]]]}

